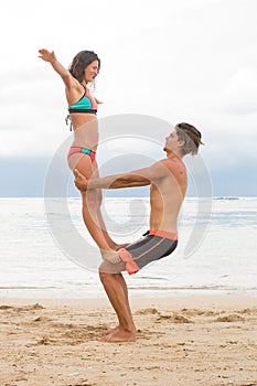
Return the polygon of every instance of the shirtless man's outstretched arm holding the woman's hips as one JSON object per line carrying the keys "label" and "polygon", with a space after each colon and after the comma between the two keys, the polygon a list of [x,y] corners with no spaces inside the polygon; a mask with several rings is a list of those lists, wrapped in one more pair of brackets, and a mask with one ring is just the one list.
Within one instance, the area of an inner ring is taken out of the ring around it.
{"label": "shirtless man's outstretched arm holding the woman's hips", "polygon": [[92,189],[122,189],[150,185],[169,174],[161,161],[149,168],[138,169],[124,174],[114,174],[100,179],[87,180],[77,169],[74,171],[75,185],[79,191]]}

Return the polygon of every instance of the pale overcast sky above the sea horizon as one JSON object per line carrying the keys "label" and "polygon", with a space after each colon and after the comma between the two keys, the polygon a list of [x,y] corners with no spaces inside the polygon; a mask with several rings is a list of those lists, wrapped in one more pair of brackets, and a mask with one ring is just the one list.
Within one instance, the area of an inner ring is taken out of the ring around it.
{"label": "pale overcast sky above the sea horizon", "polygon": [[[41,47],[66,67],[94,50],[99,120],[137,114],[188,121],[203,133],[213,194],[256,196],[256,0],[4,2],[0,196],[42,195],[46,167],[71,137],[64,86],[38,57]],[[99,163],[127,146],[121,138],[100,147]]]}

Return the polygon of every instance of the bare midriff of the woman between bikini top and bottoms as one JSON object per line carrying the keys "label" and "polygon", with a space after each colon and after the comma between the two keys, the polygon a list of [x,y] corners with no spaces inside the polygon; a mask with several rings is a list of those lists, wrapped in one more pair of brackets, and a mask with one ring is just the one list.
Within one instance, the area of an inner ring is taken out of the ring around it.
{"label": "bare midriff of the woman between bikini top and bottoms", "polygon": [[99,140],[97,118],[93,114],[76,114],[71,117],[74,129],[72,147],[82,147],[96,151]]}

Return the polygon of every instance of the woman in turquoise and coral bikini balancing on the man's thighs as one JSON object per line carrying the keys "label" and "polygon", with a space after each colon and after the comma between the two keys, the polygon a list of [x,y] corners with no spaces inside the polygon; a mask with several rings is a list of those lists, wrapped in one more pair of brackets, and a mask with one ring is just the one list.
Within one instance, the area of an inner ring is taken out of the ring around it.
{"label": "woman in turquoise and coral bikini balancing on the man's thighs", "polygon": [[[68,152],[68,165],[89,179],[98,176],[95,154],[98,144],[97,104],[88,89],[100,69],[100,60],[93,51],[81,51],[66,69],[55,56],[54,51],[39,50],[40,57],[49,62],[62,77],[66,100],[74,130],[74,142]],[[118,246],[108,235],[100,213],[101,191],[82,193],[83,218],[88,232],[100,249],[117,249]]]}

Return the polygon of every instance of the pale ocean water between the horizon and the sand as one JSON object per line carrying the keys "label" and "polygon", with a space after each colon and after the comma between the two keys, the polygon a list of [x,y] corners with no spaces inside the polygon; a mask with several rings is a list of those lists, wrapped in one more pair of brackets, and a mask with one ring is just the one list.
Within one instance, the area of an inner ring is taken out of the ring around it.
{"label": "pale ocean water between the horizon and the sand", "polygon": [[[0,297],[104,297],[81,199],[0,199]],[[148,229],[149,200],[106,197],[115,240]],[[129,277],[131,294],[257,296],[257,197],[186,199],[176,250]]]}

